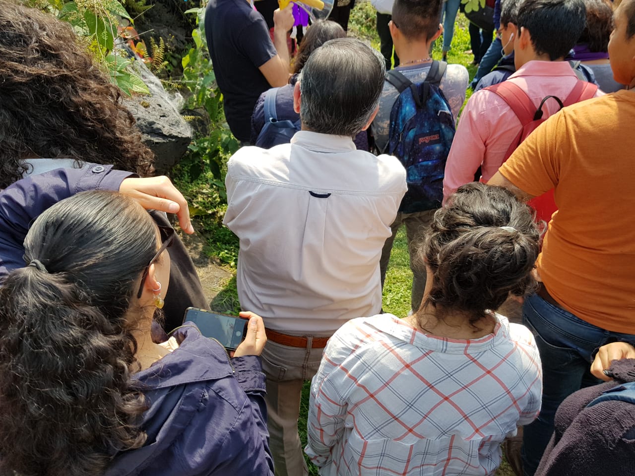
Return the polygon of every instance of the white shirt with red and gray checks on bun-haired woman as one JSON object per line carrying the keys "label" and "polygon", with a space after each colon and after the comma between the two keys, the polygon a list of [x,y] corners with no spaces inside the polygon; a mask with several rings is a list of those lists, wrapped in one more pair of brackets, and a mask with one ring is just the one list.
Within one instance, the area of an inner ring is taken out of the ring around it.
{"label": "white shirt with red and gray checks on bun-haired woman", "polygon": [[311,385],[305,451],[321,475],[491,475],[500,444],[540,409],[530,331],[437,338],[391,314],[347,322]]}

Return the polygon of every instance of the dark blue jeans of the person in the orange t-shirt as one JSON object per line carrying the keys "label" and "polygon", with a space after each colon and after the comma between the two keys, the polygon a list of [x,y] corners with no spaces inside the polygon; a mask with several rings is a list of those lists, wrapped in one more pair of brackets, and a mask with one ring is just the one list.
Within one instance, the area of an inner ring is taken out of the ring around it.
{"label": "dark blue jeans of the person in the orange t-shirt", "polygon": [[533,476],[551,439],[558,406],[580,388],[599,383],[589,370],[593,351],[610,338],[633,341],[635,336],[589,324],[537,294],[525,300],[523,324],[534,334],[542,360],[542,409],[523,433],[523,471]]}

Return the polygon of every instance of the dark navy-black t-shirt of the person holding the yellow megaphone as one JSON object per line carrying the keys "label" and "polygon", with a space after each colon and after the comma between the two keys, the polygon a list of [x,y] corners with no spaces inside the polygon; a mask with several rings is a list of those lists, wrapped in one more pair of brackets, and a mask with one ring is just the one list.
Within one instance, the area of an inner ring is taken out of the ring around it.
{"label": "dark navy-black t-shirt of the person holding the yellow megaphone", "polygon": [[271,87],[258,67],[277,55],[267,23],[246,0],[210,0],[205,36],[227,124],[238,140],[247,141],[253,107]]}

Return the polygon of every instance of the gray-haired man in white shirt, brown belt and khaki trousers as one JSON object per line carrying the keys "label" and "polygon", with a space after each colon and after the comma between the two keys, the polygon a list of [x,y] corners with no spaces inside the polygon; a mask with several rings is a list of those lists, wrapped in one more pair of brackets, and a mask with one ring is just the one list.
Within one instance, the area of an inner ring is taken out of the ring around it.
{"label": "gray-haired man in white shirt, brown belt and khaki trousers", "polygon": [[297,425],[305,380],[344,322],[382,307],[379,258],[406,173],[352,137],[377,114],[384,58],[351,38],[307,60],[294,90],[302,130],[290,144],[243,147],[227,164],[224,223],[240,240],[237,290],[264,317],[267,411],[276,474],[307,474]]}

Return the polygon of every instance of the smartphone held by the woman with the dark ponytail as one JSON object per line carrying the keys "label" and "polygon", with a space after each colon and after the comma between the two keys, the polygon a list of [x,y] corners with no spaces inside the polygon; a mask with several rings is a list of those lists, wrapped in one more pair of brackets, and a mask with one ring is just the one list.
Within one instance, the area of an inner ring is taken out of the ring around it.
{"label": "smartphone held by the woman with the dark ponytail", "polygon": [[185,309],[184,321],[192,321],[206,337],[216,339],[227,350],[236,350],[247,333],[248,319],[197,307]]}

